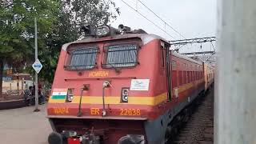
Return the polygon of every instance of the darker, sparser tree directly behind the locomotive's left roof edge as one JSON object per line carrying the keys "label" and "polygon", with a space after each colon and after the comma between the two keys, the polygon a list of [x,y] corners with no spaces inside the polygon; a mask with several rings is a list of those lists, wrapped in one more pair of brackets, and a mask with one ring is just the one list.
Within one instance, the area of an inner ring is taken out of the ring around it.
{"label": "darker, sparser tree directly behind the locomotive's left roof edge", "polygon": [[48,82],[54,79],[62,45],[81,38],[81,26],[96,27],[108,24],[119,14],[119,8],[110,0],[61,0],[60,2],[58,22],[55,22],[53,33],[46,38],[46,49],[39,55],[44,65],[39,76]]}

